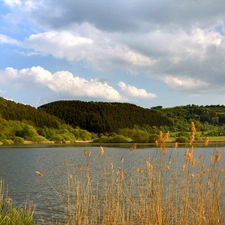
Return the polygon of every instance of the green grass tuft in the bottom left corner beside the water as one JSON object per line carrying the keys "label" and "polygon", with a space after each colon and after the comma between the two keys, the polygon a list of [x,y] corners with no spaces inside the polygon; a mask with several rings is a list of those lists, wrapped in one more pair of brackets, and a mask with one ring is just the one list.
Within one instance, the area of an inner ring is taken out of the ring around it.
{"label": "green grass tuft in the bottom left corner beside the water", "polygon": [[34,225],[33,209],[27,204],[16,208],[12,200],[4,191],[3,181],[0,179],[0,224],[1,225]]}

